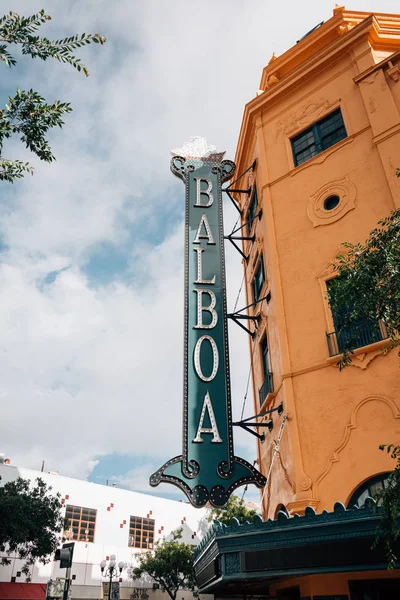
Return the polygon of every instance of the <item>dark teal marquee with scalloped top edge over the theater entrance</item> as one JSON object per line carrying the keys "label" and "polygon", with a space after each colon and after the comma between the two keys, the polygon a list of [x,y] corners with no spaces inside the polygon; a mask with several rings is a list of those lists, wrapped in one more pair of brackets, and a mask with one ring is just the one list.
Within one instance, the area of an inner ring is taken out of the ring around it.
{"label": "dark teal marquee with scalloped top edge over the theater entrance", "polygon": [[200,592],[229,593],[240,584],[257,593],[278,577],[386,570],[383,545],[372,549],[379,519],[368,498],[361,508],[337,502],[333,512],[307,507],[304,516],[280,512],[263,521],[256,515],[252,523],[232,519],[230,526],[214,521],[195,554]]}

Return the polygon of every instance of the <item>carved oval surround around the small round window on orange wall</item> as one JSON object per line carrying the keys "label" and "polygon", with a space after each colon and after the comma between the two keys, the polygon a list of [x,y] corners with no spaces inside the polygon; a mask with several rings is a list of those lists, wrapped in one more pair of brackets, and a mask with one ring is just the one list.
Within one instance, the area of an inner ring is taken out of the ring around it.
{"label": "carved oval surround around the small round window on orange wall", "polygon": [[[314,227],[330,225],[355,208],[356,195],[356,188],[348,177],[326,183],[310,196],[307,216]],[[330,196],[339,196],[340,201],[335,208],[327,210],[324,202]]]}

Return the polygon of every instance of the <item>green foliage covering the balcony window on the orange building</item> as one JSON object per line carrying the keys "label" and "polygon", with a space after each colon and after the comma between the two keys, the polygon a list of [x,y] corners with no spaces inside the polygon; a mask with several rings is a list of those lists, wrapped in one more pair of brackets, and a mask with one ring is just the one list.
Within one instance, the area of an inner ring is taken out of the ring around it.
{"label": "green foliage covering the balcony window on the orange building", "polygon": [[343,246],[348,253],[336,257],[338,277],[329,293],[336,335],[344,341],[340,368],[351,362],[366,321],[384,323],[389,337],[386,351],[400,344],[400,209],[381,219],[365,244]]}

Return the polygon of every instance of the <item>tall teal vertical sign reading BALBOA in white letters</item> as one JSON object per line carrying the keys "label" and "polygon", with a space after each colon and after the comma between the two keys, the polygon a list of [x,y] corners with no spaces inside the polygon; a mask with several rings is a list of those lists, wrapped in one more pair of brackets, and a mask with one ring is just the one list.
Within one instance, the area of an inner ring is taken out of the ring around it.
{"label": "tall teal vertical sign reading BALBOA in white letters", "polygon": [[192,138],[171,160],[186,192],[183,448],[150,485],[172,483],[196,507],[224,506],[237,487],[266,482],[233,451],[221,185],[235,164],[224,154]]}

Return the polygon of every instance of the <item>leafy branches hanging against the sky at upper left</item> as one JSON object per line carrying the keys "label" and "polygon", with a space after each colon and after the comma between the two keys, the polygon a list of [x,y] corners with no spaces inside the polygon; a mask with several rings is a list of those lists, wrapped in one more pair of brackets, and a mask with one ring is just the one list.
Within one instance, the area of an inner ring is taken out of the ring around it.
{"label": "leafy branches hanging against the sky at upper left", "polygon": [[[59,62],[68,63],[88,77],[89,71],[76,58],[73,52],[92,42],[104,44],[106,38],[99,33],[74,35],[61,40],[49,40],[36,35],[40,26],[49,21],[51,17],[44,10],[31,17],[20,17],[10,12],[0,18],[0,61],[8,67],[17,64],[15,58],[9,53],[11,44],[21,46],[22,54],[32,58],[47,60],[55,58]],[[59,100],[47,104],[37,92],[17,90],[14,97],[9,97],[4,110],[0,111],[0,181],[13,183],[25,175],[33,173],[29,163],[19,160],[9,160],[2,156],[3,143],[12,135],[20,135],[20,139],[26,147],[34,152],[41,160],[52,162],[55,160],[51,148],[46,139],[46,134],[53,127],[62,127],[64,114],[71,112],[72,108],[68,102]]]}

